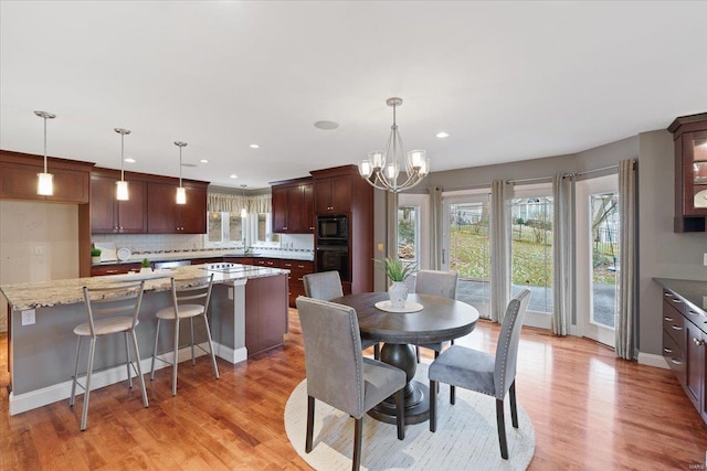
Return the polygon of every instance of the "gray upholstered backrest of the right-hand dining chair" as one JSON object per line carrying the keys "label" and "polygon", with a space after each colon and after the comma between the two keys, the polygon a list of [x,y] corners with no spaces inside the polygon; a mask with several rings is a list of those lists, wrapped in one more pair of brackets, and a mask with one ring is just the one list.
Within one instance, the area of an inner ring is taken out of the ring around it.
{"label": "gray upholstered backrest of the right-hand dining chair", "polygon": [[494,370],[494,384],[496,385],[496,398],[503,399],[516,377],[516,363],[518,360],[518,344],[520,343],[520,330],[526,317],[530,290],[524,289],[508,302],[504,315],[496,345],[496,364]]}

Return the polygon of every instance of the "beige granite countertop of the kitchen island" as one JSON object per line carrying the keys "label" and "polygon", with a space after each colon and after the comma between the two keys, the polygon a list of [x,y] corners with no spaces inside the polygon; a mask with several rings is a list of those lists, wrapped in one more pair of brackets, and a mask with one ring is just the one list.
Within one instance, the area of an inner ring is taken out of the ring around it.
{"label": "beige granite countertop of the kitchen island", "polygon": [[249,278],[272,277],[288,274],[279,268],[241,265],[236,271],[222,272],[205,269],[207,265],[191,265],[160,270],[147,275],[113,275],[105,277],[71,278],[64,280],[24,282],[0,286],[13,310],[48,308],[60,304],[84,302],[83,287],[104,288],[127,281],[145,279],[145,292],[167,291],[171,289],[170,278],[193,278],[213,274],[214,283],[225,283]]}

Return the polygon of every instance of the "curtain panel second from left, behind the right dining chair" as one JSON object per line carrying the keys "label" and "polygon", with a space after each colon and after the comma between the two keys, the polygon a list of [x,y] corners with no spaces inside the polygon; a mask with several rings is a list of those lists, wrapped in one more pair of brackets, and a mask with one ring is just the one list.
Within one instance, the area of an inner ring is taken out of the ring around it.
{"label": "curtain panel second from left, behind the right dining chair", "polygon": [[490,184],[490,319],[502,322],[510,299],[510,199],[513,185]]}

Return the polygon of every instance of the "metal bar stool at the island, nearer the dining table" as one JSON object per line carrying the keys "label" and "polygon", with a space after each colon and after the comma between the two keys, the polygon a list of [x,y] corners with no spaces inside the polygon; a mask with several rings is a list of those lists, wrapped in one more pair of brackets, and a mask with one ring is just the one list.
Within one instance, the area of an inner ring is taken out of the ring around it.
{"label": "metal bar stool at the island, nearer the dining table", "polygon": [[[152,349],[152,365],[150,367],[150,379],[155,379],[155,360],[172,365],[172,396],[177,395],[177,367],[179,365],[179,323],[182,319],[189,319],[189,333],[191,345],[191,364],[196,365],[194,346],[211,355],[211,366],[213,375],[219,379],[219,366],[213,353],[213,341],[211,340],[211,329],[209,329],[209,302],[211,300],[211,289],[213,288],[213,274],[205,277],[171,279],[172,302],[171,306],[162,308],[155,317],[157,318],[157,329],[155,331],[155,346]],[[203,318],[209,351],[198,343],[194,343],[194,318]],[[161,321],[175,321],[175,343],[172,361],[168,362],[157,355],[157,344],[159,341],[159,327]]]}

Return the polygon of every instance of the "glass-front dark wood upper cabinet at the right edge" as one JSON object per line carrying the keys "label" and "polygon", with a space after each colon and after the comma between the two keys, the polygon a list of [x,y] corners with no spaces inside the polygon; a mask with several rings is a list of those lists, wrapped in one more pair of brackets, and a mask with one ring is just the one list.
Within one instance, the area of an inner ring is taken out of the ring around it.
{"label": "glass-front dark wood upper cabinet at the right edge", "polygon": [[707,114],[676,118],[675,232],[705,232],[707,217]]}

